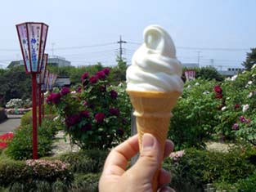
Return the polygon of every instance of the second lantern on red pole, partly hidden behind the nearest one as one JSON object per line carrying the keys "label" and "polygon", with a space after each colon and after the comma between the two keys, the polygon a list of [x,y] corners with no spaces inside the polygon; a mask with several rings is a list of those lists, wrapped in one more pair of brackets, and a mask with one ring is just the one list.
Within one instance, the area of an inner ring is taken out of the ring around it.
{"label": "second lantern on red pole, partly hidden behind the nearest one", "polygon": [[38,123],[39,126],[42,124],[42,100],[43,100],[43,92],[42,92],[42,84],[45,78],[45,72],[47,69],[47,59],[48,54],[43,54],[43,60],[41,64],[41,72],[40,74],[37,74],[37,81],[38,81]]}

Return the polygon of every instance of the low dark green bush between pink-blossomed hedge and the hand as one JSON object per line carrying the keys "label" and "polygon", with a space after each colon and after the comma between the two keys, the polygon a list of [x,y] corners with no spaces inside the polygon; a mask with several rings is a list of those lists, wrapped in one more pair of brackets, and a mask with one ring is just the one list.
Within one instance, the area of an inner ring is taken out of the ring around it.
{"label": "low dark green bush between pink-blossomed hedge and the hand", "polygon": [[107,152],[104,150],[81,150],[76,153],[61,154],[57,159],[70,164],[72,172],[101,172]]}

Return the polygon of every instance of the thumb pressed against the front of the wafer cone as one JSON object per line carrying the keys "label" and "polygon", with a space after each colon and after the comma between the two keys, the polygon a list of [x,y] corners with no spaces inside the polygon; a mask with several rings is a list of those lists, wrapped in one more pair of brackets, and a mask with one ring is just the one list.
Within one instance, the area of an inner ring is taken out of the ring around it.
{"label": "thumb pressed against the front of the wafer cone", "polygon": [[140,158],[129,172],[132,172],[131,174],[134,174],[137,180],[150,183],[161,163],[160,151],[160,145],[155,136],[145,133],[142,136]]}

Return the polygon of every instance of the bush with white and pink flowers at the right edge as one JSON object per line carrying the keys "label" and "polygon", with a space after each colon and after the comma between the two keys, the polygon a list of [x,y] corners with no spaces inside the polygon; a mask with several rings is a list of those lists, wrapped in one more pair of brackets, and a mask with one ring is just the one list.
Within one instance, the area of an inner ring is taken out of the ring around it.
{"label": "bush with white and pink flowers at the right edge", "polygon": [[256,145],[256,68],[227,78],[222,89],[223,110],[218,114],[216,132],[227,139],[236,136]]}

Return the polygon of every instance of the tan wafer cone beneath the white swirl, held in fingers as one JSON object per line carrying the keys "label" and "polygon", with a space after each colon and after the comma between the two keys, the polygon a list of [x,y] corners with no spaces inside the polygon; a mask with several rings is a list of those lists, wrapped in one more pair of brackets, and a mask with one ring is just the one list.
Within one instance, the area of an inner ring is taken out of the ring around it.
{"label": "tan wafer cone beneath the white swirl, held in fingers", "polygon": [[[137,132],[141,150],[141,138],[144,133],[154,135],[161,145],[161,158],[164,158],[164,145],[172,109],[181,96],[181,92],[135,92],[127,90],[135,109]],[[160,166],[161,167],[161,166]],[[160,170],[159,167],[159,170]],[[152,180],[153,191],[157,191],[159,170]]]}

